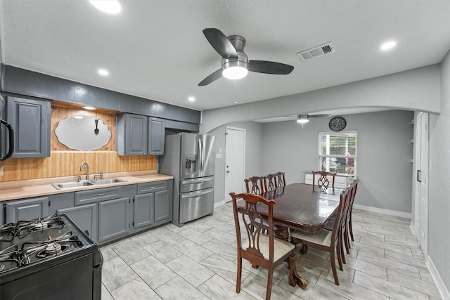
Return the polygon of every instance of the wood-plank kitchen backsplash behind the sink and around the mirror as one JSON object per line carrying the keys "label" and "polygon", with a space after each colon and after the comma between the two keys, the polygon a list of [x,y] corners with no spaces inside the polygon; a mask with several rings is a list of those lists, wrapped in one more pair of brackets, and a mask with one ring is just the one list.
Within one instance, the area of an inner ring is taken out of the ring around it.
{"label": "wood-plank kitchen backsplash behind the sink and around the mirror", "polygon": [[[111,138],[108,144],[95,151],[74,151],[59,143],[55,134],[58,122],[72,115],[94,115],[110,127]],[[79,176],[82,162],[89,164],[89,173],[98,174],[122,171],[156,170],[157,157],[153,155],[119,156],[115,152],[115,115],[108,112],[79,110],[70,107],[51,109],[51,156],[43,158],[11,158],[0,163],[4,165],[0,182],[17,181],[58,176]]]}

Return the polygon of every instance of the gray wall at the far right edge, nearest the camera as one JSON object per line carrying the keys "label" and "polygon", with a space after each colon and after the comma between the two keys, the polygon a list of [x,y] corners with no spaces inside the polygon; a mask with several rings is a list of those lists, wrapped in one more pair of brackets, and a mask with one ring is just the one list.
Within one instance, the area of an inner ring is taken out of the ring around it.
{"label": "gray wall at the far right edge, nearest the camera", "polygon": [[450,291],[450,52],[441,63],[441,114],[430,115],[428,256]]}

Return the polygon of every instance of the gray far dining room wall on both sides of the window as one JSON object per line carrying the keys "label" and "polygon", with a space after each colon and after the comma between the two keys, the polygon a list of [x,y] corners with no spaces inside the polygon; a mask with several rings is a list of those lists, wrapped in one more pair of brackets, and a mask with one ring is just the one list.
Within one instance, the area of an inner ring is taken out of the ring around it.
{"label": "gray far dining room wall on both sides of the window", "polygon": [[[355,204],[411,214],[413,112],[391,110],[344,116],[345,130],[358,133],[359,190]],[[288,183],[304,182],[318,169],[319,131],[330,118],[264,124],[262,174],[284,171]]]}

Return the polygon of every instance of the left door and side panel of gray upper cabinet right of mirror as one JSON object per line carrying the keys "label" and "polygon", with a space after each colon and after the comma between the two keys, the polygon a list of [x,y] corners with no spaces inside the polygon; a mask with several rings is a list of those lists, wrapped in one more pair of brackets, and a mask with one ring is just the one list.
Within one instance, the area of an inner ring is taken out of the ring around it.
{"label": "left door and side panel of gray upper cabinet right of mirror", "polygon": [[147,154],[148,118],[119,114],[116,117],[116,151],[118,155]]}

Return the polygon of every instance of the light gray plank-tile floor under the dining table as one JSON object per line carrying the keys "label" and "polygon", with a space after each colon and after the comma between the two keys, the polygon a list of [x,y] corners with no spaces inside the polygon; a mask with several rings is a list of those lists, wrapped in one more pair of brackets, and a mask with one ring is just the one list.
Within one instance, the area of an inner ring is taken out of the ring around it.
{"label": "light gray plank-tile floor under the dining table", "polygon": [[[264,299],[266,270],[243,260],[236,294],[236,235],[231,204],[181,228],[167,224],[101,247],[102,300]],[[307,288],[288,284],[283,263],[271,299],[441,299],[410,220],[354,209],[355,241],[334,284],[328,254],[297,253]],[[297,252],[301,245],[297,246]]]}

